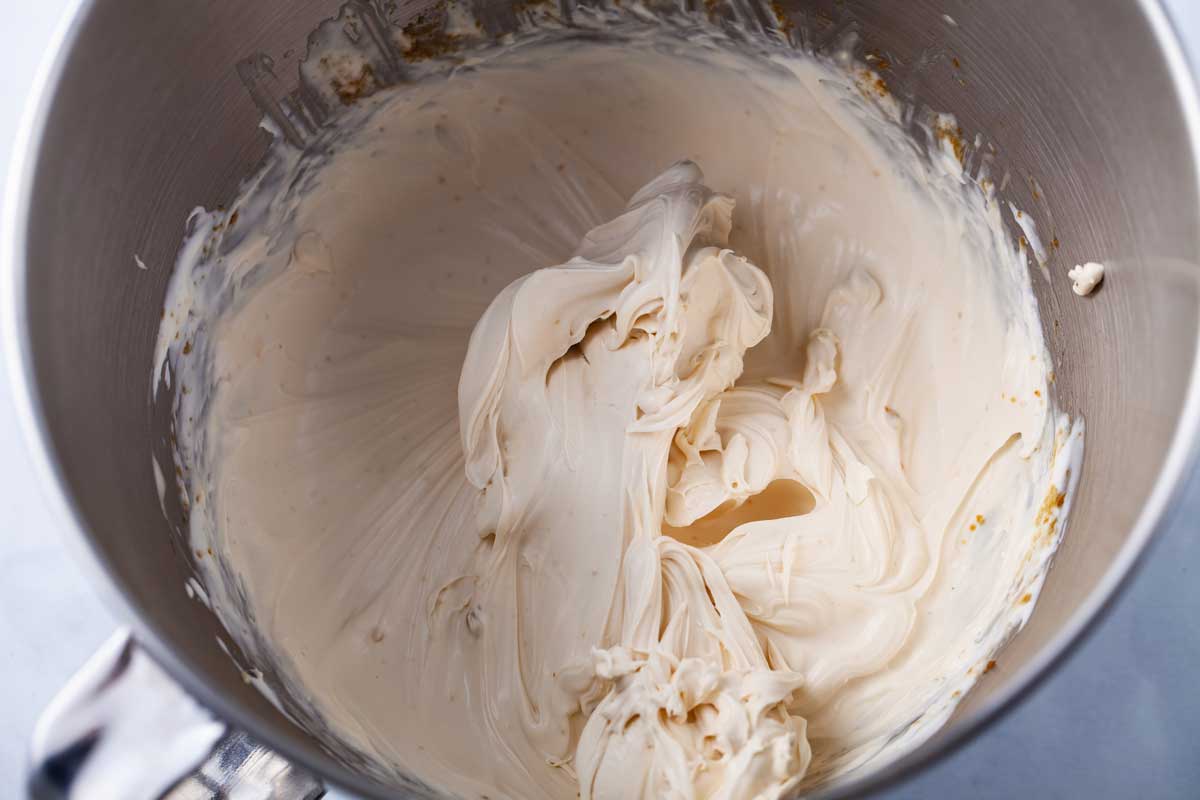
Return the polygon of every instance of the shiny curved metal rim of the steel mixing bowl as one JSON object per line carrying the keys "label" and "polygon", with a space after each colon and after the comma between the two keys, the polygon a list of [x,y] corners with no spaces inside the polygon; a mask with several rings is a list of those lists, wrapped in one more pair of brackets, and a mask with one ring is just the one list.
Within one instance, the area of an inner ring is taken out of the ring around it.
{"label": "shiny curved metal rim of the steel mixing bowl", "polygon": [[[55,458],[43,404],[34,374],[30,350],[29,319],[25,299],[25,233],[29,223],[30,199],[34,192],[35,169],[38,161],[42,132],[46,128],[55,90],[62,77],[88,14],[102,0],[68,0],[59,26],[50,38],[46,54],[30,86],[20,126],[13,142],[10,172],[4,191],[0,216],[0,347],[4,368],[12,386],[18,427],[22,429],[26,453],[32,463],[44,500],[61,541],[80,564],[89,583],[109,608],[133,630],[142,644],[197,700],[229,724],[245,730],[259,742],[271,747],[295,764],[312,770],[326,783],[384,800],[396,796],[394,789],[353,772],[331,757],[304,750],[290,740],[274,735],[257,715],[217,691],[214,684],[166,644],[162,631],[143,619],[130,591],[113,577],[108,558],[95,546],[88,534],[85,519],[71,497],[61,465]],[[1200,100],[1194,72],[1180,41],[1175,24],[1162,0],[1138,0],[1151,32],[1166,62],[1188,132],[1195,163],[1200,164]],[[1200,193],[1200,170],[1193,181]],[[823,798],[862,796],[886,786],[898,784],[919,770],[956,752],[976,739],[989,724],[1012,711],[1042,685],[1045,678],[1074,652],[1114,607],[1138,569],[1145,563],[1150,545],[1160,537],[1177,518],[1180,498],[1188,479],[1200,463],[1200,338],[1193,359],[1182,411],[1171,439],[1166,458],[1159,469],[1150,498],[1130,529],[1129,537],[1117,552],[1097,587],[1067,620],[1063,628],[1028,663],[1022,666],[1007,687],[989,698],[944,736],[926,741],[877,770],[838,782]]]}

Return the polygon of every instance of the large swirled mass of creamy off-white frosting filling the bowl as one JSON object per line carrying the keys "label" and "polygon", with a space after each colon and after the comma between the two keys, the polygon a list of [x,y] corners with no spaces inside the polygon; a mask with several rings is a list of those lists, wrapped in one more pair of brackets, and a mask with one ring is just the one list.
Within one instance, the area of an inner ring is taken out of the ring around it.
{"label": "large swirled mass of creamy off-white frosting filling the bowl", "polygon": [[360,769],[774,798],[923,741],[1027,619],[1082,431],[1001,203],[872,73],[738,48],[431,65],[193,215],[192,589]]}

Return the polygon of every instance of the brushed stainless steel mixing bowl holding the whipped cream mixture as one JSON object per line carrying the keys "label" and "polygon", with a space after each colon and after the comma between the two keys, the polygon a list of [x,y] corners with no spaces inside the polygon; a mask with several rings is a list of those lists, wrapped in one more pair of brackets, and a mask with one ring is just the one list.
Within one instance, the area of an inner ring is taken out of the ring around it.
{"label": "brushed stainless steel mixing bowl holding the whipped cream mixture", "polygon": [[[150,365],[182,221],[197,204],[233,198],[268,144],[239,76],[258,70],[258,102],[270,106],[268,62],[236,65],[270,55],[274,97],[286,96],[305,36],[337,4],[79,5],[41,78],[13,170],[4,338],[50,503],[143,645],[224,720],[334,783],[383,796],[388,788],[326,754],[214,645],[222,631],[184,591],[188,567],[150,459],[168,435],[149,399]],[[478,6],[511,13],[503,2]],[[1096,622],[1177,505],[1200,403],[1196,100],[1148,0],[781,7],[794,36],[857,31],[889,62],[894,91],[955,113],[967,139],[979,132],[995,145],[994,174],[1009,175],[1003,197],[1034,216],[1050,249],[1049,279],[1034,270],[1033,282],[1058,398],[1087,422],[1069,530],[1031,622],[940,734],[833,789],[856,794],[944,754],[1010,708]],[[401,4],[389,13],[418,11]],[[1086,300],[1066,277],[1082,260],[1109,267]]]}

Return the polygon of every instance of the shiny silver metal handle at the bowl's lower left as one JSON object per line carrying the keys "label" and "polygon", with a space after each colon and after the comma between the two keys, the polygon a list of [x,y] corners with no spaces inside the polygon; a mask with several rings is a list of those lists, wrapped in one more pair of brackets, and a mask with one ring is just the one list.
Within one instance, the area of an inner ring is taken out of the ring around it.
{"label": "shiny silver metal handle at the bowl's lower left", "polygon": [[324,784],[192,699],[119,631],[34,730],[35,800],[317,800]]}

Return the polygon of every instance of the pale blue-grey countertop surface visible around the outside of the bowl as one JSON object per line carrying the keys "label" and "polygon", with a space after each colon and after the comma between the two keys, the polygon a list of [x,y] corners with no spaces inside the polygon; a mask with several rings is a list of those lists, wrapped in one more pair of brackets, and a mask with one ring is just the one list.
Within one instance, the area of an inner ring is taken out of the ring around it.
{"label": "pale blue-grey countertop surface visible around the outside of the bowl", "polygon": [[[0,157],[65,6],[0,0]],[[1200,2],[1166,6],[1200,64]],[[37,714],[116,626],[68,559],[31,473],[0,374],[0,798],[22,795]],[[1200,480],[1189,489],[1084,646],[1012,714],[887,798],[1200,796]]]}

